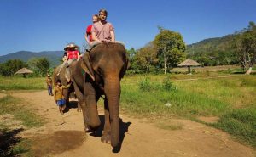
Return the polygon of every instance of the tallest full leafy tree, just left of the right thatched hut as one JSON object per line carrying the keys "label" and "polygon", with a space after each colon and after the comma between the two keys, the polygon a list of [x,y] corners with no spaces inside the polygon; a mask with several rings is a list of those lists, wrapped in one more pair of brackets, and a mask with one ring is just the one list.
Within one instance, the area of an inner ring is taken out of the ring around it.
{"label": "tallest full leafy tree, just left of the right thatched hut", "polygon": [[163,64],[165,74],[167,67],[177,66],[184,59],[186,45],[183,36],[175,31],[158,28],[160,33],[154,37],[160,64]]}

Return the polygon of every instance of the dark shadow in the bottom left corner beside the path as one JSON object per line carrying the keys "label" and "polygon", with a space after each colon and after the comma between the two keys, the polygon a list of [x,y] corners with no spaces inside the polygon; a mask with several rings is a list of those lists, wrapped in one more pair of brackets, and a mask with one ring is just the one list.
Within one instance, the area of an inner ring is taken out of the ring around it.
{"label": "dark shadow in the bottom left corner beside the path", "polygon": [[[21,137],[16,137],[19,132],[22,132],[24,129],[14,129],[11,131],[4,130],[3,136],[0,137],[0,156],[3,157],[11,157],[17,156],[20,152],[12,151],[12,147],[14,147],[17,143],[20,142]],[[22,153],[27,152],[28,150],[24,150]]]}

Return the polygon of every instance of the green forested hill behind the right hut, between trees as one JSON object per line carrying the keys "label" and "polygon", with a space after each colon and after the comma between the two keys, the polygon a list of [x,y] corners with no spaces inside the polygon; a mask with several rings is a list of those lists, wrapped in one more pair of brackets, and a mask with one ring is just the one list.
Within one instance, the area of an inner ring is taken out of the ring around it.
{"label": "green forested hill behind the right hut, between trees", "polygon": [[204,65],[237,64],[232,42],[236,35],[215,37],[187,45],[188,58]]}

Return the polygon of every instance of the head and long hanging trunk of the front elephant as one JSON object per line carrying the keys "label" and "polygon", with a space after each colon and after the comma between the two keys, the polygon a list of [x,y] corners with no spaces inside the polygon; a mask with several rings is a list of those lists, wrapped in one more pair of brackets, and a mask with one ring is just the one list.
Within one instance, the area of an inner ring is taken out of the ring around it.
{"label": "head and long hanging trunk of the front elephant", "polygon": [[[106,96],[109,117],[105,112],[105,119],[109,119],[111,144],[113,147],[119,143],[120,80],[125,75],[127,64],[128,58],[125,53],[125,47],[119,43],[105,42],[97,45],[90,53],[85,53],[81,62],[81,67],[88,74],[87,77],[90,76],[90,83],[95,84],[95,93],[97,94],[99,93],[98,91],[101,91]],[[86,87],[84,87],[84,93],[90,93],[90,90],[86,91]],[[88,101],[90,100],[88,98],[84,99],[86,106],[88,106]],[[97,115],[96,107],[88,108],[87,111],[90,112],[88,117],[90,126],[90,120],[95,121],[98,118],[95,116]],[[91,114],[91,112],[94,114]]]}

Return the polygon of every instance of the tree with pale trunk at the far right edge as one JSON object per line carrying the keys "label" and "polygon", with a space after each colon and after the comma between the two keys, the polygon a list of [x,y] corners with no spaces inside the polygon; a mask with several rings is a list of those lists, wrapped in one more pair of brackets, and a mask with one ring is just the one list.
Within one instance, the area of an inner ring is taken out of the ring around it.
{"label": "tree with pale trunk at the far right edge", "polygon": [[249,75],[256,62],[256,25],[250,22],[247,29],[240,32],[233,43],[241,66]]}

